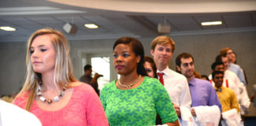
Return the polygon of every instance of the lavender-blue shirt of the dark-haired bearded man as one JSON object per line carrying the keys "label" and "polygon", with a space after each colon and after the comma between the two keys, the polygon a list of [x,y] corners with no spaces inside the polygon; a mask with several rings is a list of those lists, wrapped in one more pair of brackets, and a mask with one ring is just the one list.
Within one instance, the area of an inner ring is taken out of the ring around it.
{"label": "lavender-blue shirt of the dark-haired bearded man", "polygon": [[221,104],[212,84],[207,80],[193,78],[189,82],[190,94],[192,98],[192,107],[195,106],[219,106],[222,112]]}

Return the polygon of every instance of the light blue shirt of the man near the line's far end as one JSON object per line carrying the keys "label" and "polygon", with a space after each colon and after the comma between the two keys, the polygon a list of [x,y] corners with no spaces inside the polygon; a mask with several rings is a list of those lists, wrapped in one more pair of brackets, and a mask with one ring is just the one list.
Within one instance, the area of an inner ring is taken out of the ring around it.
{"label": "light blue shirt of the man near the line's far end", "polygon": [[245,79],[244,79],[244,75],[243,75],[243,71],[240,68],[239,65],[235,65],[233,63],[229,63],[228,65],[228,69],[232,72],[235,72],[235,74],[239,77],[239,80],[243,83],[243,84],[247,84]]}

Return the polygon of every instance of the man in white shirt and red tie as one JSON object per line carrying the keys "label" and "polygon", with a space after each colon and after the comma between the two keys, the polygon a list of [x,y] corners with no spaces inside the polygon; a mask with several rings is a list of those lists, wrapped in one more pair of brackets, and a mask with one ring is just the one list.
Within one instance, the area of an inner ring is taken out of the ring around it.
{"label": "man in white shirt and red tie", "polygon": [[190,88],[186,77],[168,68],[174,50],[175,42],[171,38],[158,36],[152,40],[150,53],[156,63],[158,78],[168,91],[178,117],[186,117],[181,112],[181,107],[190,109],[191,106]]}

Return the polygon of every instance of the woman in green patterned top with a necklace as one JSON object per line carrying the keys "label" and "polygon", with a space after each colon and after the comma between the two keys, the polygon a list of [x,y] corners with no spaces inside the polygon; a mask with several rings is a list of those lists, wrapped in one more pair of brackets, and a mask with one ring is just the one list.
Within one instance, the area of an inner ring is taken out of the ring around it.
{"label": "woman in green patterned top with a necklace", "polygon": [[113,63],[120,75],[102,89],[100,100],[110,125],[155,125],[156,113],[166,125],[179,125],[168,92],[159,80],[149,78],[144,68],[144,48],[131,37],[113,46]]}

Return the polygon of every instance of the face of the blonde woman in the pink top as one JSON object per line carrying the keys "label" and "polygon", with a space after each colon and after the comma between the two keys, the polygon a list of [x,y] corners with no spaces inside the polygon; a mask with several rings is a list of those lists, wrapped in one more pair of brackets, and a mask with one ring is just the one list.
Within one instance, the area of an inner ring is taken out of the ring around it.
{"label": "face of the blonde woman in the pink top", "polygon": [[30,46],[31,62],[35,72],[54,72],[55,47],[51,43],[51,35],[40,35]]}

